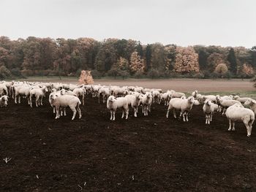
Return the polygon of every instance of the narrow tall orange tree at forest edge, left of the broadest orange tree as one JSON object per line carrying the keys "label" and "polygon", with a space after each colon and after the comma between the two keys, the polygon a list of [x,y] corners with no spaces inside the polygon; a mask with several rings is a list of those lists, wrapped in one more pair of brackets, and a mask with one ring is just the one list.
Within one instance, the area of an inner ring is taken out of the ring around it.
{"label": "narrow tall orange tree at forest edge, left of the broadest orange tree", "polygon": [[144,72],[145,70],[144,61],[140,58],[137,51],[133,52],[131,55],[129,70],[132,72],[132,74],[135,72]]}

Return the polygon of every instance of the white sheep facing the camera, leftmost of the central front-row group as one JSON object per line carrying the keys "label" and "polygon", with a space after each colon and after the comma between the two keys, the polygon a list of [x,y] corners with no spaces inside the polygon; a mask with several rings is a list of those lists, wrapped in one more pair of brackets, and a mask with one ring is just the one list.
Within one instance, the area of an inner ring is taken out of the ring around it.
{"label": "white sheep facing the camera, leftmost of the central front-row group", "polygon": [[109,96],[107,100],[107,108],[110,110],[110,120],[116,120],[116,110],[118,108],[122,108],[122,116],[121,118],[124,118],[124,113],[126,114],[126,118],[128,118],[129,115],[129,107],[128,107],[128,101],[125,97],[118,97],[115,96]]}

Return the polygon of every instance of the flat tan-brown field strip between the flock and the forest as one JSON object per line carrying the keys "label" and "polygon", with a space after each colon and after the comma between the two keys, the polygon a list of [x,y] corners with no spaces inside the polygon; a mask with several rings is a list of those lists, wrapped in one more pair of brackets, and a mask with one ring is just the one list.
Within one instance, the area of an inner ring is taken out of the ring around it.
{"label": "flat tan-brown field strip between the flock and the forest", "polygon": [[[77,77],[29,77],[28,79],[19,79],[20,81],[39,81],[39,82],[65,82],[78,83]],[[111,80],[99,79],[94,80],[94,84],[101,85],[138,85],[145,88],[162,88],[163,91],[173,89],[191,94],[192,91],[198,90],[199,93],[230,95],[238,94],[240,96],[249,96],[256,98],[256,89],[252,86],[250,80],[231,79],[231,80],[200,80],[200,79],[128,79],[128,80]]]}

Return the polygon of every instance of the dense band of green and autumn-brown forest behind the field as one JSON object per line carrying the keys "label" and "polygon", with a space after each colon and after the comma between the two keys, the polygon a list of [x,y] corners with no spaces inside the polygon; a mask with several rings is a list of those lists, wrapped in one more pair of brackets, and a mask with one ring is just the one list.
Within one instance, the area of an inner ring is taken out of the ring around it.
{"label": "dense band of green and autumn-brown forest behind the field", "polygon": [[256,46],[180,47],[132,39],[50,39],[0,37],[0,77],[78,76],[91,70],[94,77],[252,77]]}

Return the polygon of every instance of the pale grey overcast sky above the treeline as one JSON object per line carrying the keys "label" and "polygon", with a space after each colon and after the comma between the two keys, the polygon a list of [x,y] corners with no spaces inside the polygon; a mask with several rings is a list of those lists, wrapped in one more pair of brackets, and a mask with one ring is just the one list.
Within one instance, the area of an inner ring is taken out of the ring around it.
{"label": "pale grey overcast sky above the treeline", "polygon": [[0,0],[0,36],[256,45],[255,0]]}

